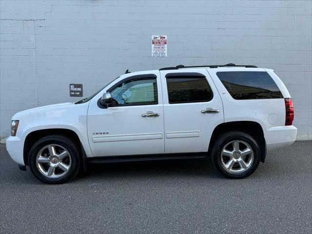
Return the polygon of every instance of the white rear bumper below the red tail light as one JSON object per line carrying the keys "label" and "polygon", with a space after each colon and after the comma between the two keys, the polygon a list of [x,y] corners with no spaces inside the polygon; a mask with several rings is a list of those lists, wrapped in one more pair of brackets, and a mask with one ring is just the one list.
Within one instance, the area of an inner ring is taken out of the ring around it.
{"label": "white rear bumper below the red tail light", "polygon": [[291,145],[297,137],[295,126],[278,126],[264,131],[267,151],[280,149]]}

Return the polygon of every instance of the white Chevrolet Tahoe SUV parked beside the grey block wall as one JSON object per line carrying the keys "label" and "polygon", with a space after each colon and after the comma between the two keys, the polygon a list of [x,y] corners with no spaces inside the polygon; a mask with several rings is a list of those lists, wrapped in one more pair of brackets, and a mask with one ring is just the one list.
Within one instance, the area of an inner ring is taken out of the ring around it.
{"label": "white Chevrolet Tahoe SUV parked beside the grey block wall", "polygon": [[6,141],[21,170],[46,183],[88,163],[204,158],[230,178],[291,145],[292,99],[271,69],[207,65],[126,72],[89,98],[12,117]]}

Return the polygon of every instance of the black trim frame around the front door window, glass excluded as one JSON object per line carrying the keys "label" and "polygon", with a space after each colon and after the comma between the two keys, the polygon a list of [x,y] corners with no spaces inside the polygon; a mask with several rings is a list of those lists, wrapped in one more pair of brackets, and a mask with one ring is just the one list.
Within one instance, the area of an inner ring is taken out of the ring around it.
{"label": "black trim frame around the front door window, glass excluded", "polygon": [[127,78],[124,78],[120,81],[118,81],[116,84],[114,84],[112,87],[110,87],[108,90],[106,90],[106,92],[111,92],[113,91],[115,88],[117,88],[120,84],[128,81],[128,80],[132,80],[132,79],[156,79],[156,90],[154,90],[154,92],[156,92],[157,94],[157,100],[156,102],[133,102],[131,104],[121,104],[121,105],[109,105],[108,107],[120,107],[120,106],[147,106],[147,105],[158,105],[158,87],[157,87],[157,76],[155,74],[141,74],[141,75],[135,75],[135,76],[130,76]]}

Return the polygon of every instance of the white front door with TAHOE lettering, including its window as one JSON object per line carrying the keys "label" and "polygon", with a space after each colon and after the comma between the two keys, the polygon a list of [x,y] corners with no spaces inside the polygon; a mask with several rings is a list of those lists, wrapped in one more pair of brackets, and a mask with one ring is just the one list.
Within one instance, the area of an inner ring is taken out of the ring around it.
{"label": "white front door with TAHOE lettering, including its window", "polygon": [[[107,109],[97,104],[105,92],[113,98]],[[127,74],[93,98],[88,110],[88,138],[94,156],[163,154],[159,72]]]}

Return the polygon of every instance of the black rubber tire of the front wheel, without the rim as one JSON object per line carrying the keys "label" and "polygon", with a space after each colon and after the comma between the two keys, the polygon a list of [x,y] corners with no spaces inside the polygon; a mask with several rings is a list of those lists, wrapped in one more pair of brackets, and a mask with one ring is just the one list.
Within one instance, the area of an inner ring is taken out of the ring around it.
{"label": "black rubber tire of the front wheel, without the rim", "polygon": [[[71,156],[71,166],[65,175],[57,178],[50,178],[44,176],[38,169],[36,163],[36,157],[39,151],[47,145],[56,144],[67,150],[67,152]],[[77,144],[69,137],[64,137],[61,135],[51,135],[47,137],[43,137],[39,139],[33,147],[29,151],[28,155],[28,165],[30,167],[31,172],[36,176],[39,180],[48,184],[61,184],[65,183],[75,176],[78,175],[80,170],[80,150]]]}

